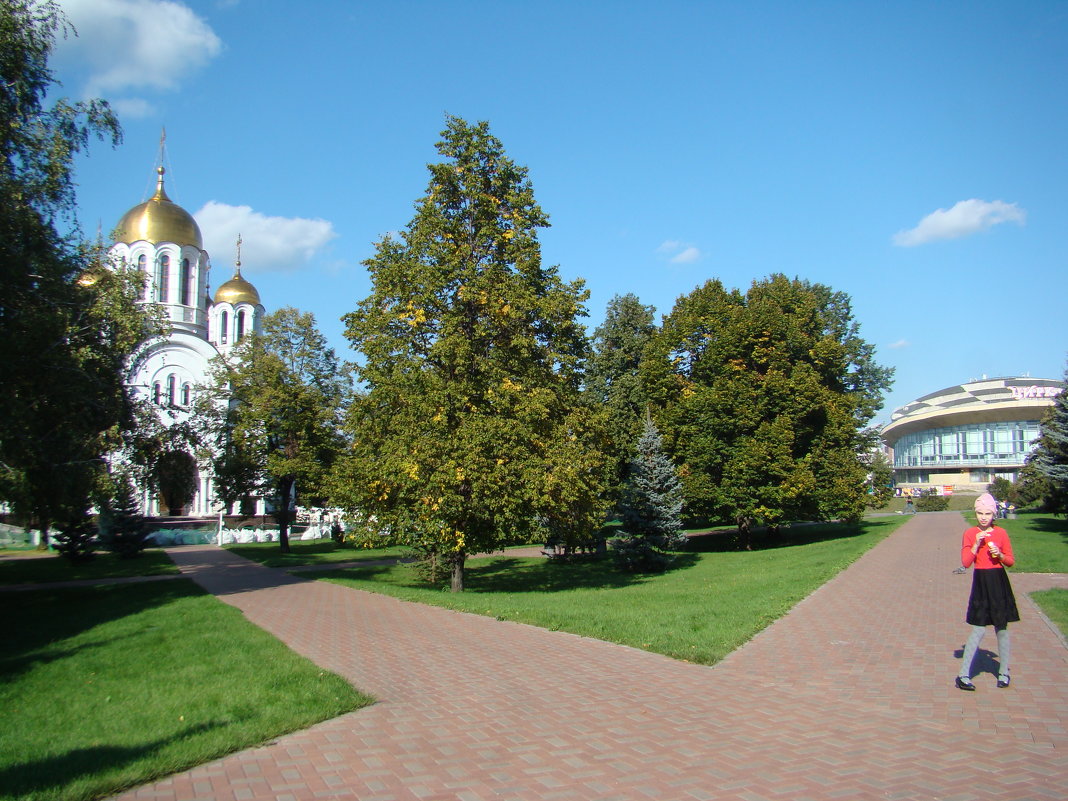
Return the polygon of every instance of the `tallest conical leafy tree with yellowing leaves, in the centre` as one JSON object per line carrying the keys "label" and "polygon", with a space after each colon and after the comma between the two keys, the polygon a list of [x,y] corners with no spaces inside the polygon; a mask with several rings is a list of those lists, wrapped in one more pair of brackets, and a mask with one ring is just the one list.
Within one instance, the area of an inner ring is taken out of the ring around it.
{"label": "tallest conical leafy tree with yellowing leaves, in the centre", "polygon": [[426,194],[365,264],[346,315],[365,390],[349,420],[348,505],[431,552],[464,588],[469,553],[566,539],[603,519],[596,413],[580,392],[582,283],[541,263],[548,219],[486,123],[449,117]]}

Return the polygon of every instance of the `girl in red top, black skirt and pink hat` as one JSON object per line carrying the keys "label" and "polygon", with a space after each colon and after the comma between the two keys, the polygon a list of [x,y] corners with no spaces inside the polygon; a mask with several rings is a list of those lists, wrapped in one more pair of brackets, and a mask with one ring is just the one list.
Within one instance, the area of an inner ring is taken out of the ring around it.
{"label": "girl in red top, black skirt and pink hat", "polygon": [[972,626],[972,633],[964,645],[964,656],[960,660],[957,688],[975,690],[972,684],[972,661],[979,648],[987,626],[994,627],[998,635],[998,687],[1008,687],[1009,639],[1008,624],[1020,619],[1016,609],[1016,596],[1008,582],[1006,567],[1016,564],[1012,544],[1008,533],[993,524],[998,514],[998,502],[989,492],[975,499],[975,519],[978,525],[964,532],[960,546],[960,564],[972,565],[972,594],[968,598],[968,613],[964,619]]}

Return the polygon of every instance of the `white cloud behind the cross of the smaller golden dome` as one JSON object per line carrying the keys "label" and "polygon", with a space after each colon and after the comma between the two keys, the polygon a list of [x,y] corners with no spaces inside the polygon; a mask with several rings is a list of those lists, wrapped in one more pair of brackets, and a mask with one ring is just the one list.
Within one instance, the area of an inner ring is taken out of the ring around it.
{"label": "white cloud behind the cross of the smaller golden dome", "polygon": [[197,211],[204,248],[216,268],[232,265],[241,237],[241,268],[248,272],[293,270],[308,264],[337,236],[328,220],[268,217],[249,206],[208,201]]}

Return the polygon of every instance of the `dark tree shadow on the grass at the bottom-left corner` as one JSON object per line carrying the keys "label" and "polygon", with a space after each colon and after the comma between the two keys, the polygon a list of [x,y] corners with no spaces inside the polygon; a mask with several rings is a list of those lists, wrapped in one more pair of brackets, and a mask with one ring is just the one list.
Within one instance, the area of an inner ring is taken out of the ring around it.
{"label": "dark tree shadow on the grass at the bottom-left corner", "polygon": [[[70,784],[89,779],[93,775],[108,772],[122,771],[126,766],[143,760],[146,757],[159,753],[168,745],[179,740],[220,728],[225,724],[210,722],[199,723],[186,726],[176,732],[171,737],[146,742],[141,745],[94,745],[91,748],[74,749],[63,754],[48,756],[41,759],[33,759],[26,763],[18,763],[0,768],[0,787],[3,788],[5,797],[10,798],[56,798],[61,795],[63,788]],[[167,769],[182,769],[172,763],[167,763]],[[159,778],[159,772],[145,771],[143,779],[138,782],[147,782],[154,778]],[[106,781],[106,780],[105,780]],[[114,794],[129,783],[120,784],[115,782],[111,786],[100,786],[94,788],[93,797],[101,792]]]}

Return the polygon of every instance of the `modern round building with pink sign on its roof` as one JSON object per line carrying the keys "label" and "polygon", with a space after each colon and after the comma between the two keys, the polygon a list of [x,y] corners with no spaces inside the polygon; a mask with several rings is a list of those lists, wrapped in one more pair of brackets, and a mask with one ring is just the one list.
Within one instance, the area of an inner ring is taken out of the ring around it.
{"label": "modern round building with pink sign on its roof", "polygon": [[983,378],[896,409],[882,429],[896,485],[983,491],[996,477],[1016,481],[1064,389],[1051,378]]}

